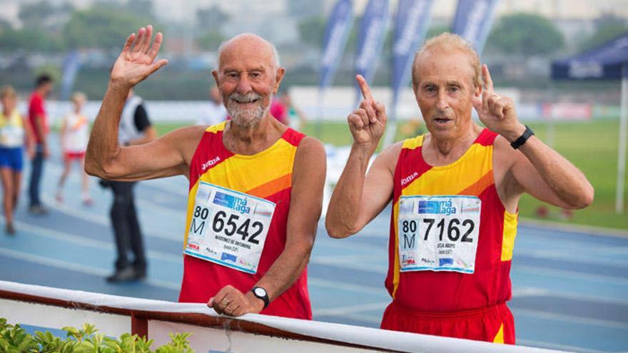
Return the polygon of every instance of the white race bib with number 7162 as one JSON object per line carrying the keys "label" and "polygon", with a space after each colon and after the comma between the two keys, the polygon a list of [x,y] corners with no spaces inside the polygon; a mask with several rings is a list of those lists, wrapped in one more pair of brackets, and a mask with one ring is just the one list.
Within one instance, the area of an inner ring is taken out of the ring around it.
{"label": "white race bib with number 7162", "polygon": [[473,273],[482,201],[475,196],[401,196],[397,237],[401,272]]}

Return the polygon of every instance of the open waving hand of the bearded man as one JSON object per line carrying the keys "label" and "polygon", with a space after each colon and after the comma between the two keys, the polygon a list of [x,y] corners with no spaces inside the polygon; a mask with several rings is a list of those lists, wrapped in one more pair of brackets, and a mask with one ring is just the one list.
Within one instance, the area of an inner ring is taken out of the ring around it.
{"label": "open waving hand of the bearded man", "polygon": [[139,29],[137,35],[133,33],[128,36],[111,69],[112,83],[133,87],[168,63],[166,59],[155,61],[163,36],[158,32],[151,46],[152,36],[151,25]]}

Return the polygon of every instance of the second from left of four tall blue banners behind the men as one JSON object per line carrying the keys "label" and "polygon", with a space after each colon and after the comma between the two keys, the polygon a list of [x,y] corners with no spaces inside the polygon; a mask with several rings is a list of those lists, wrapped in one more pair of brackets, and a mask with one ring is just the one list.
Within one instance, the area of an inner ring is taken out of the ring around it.
{"label": "second from left of four tall blue banners behind the men", "polygon": [[[388,29],[388,0],[370,0],[364,10],[358,36],[358,51],[355,55],[355,74],[362,75],[370,83],[378,67]],[[360,87],[358,101],[360,101]]]}

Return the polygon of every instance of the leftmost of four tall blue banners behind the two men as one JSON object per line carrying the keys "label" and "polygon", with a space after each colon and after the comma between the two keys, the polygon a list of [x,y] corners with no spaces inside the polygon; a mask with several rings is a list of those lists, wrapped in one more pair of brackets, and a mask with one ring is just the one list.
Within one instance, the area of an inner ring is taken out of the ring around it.
{"label": "leftmost of four tall blue banners behind the two men", "polygon": [[323,63],[318,86],[320,90],[329,86],[333,80],[338,62],[343,57],[352,24],[353,4],[351,4],[351,0],[338,0],[325,29]]}

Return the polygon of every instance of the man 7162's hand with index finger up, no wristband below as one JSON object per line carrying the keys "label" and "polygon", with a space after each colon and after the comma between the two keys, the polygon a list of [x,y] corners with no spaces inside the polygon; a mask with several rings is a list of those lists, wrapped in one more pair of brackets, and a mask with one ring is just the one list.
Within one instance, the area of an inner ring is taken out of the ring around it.
{"label": "man 7162's hand with index finger up, no wristband below", "polygon": [[368,145],[368,147],[377,148],[380,138],[384,134],[386,128],[386,108],[382,103],[378,103],[373,99],[370,88],[366,80],[358,75],[355,76],[358,85],[362,91],[363,101],[360,107],[350,113],[347,120],[349,122],[349,130],[353,135],[353,143],[358,145]]}

